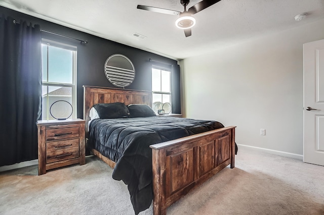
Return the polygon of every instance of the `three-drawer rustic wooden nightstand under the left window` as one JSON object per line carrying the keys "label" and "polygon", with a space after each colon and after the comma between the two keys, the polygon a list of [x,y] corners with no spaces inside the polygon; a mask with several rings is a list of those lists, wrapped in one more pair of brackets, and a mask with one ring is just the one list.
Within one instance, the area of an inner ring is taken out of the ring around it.
{"label": "three-drawer rustic wooden nightstand under the left window", "polygon": [[85,120],[39,120],[38,175],[75,163],[86,164]]}

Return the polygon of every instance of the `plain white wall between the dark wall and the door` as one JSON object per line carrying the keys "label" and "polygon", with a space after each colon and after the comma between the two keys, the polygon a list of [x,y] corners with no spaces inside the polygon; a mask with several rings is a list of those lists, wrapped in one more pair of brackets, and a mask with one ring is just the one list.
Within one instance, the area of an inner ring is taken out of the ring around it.
{"label": "plain white wall between the dark wall and the door", "polygon": [[324,39],[323,26],[324,19],[180,61],[182,113],[237,126],[237,144],[302,155],[303,44]]}

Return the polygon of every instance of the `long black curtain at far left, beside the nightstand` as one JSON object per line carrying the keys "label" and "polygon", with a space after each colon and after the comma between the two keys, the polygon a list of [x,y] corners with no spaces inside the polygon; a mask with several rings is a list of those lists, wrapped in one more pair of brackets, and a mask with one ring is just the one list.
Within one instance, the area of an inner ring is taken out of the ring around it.
{"label": "long black curtain at far left, beside the nightstand", "polygon": [[37,159],[42,105],[39,25],[0,20],[0,166]]}

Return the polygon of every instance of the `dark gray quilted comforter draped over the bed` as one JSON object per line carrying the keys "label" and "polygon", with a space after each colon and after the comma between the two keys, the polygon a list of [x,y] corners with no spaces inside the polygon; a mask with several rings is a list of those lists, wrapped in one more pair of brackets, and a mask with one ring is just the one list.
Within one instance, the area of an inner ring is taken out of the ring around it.
{"label": "dark gray quilted comforter draped over the bed", "polygon": [[88,146],[116,162],[112,177],[128,185],[138,214],[153,199],[149,145],[222,127],[217,121],[176,117],[97,119],[90,124]]}

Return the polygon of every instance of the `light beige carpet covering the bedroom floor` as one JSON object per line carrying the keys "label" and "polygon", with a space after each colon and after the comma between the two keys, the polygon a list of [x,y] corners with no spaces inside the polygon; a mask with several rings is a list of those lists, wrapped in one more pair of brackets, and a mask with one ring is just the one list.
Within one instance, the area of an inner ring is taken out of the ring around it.
{"label": "light beige carpet covering the bedroom floor", "polygon": [[[40,176],[37,165],[1,172],[0,214],[134,214],[112,169],[96,157],[86,160]],[[223,169],[167,213],[324,214],[324,166],[239,149],[234,169]]]}

